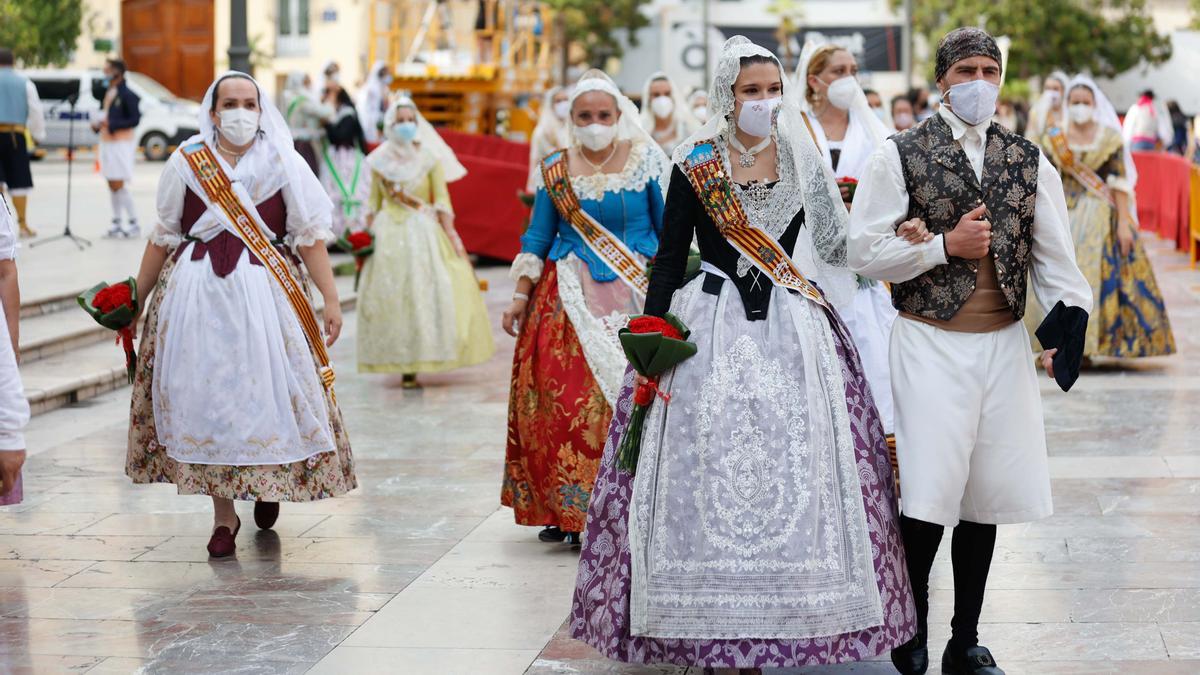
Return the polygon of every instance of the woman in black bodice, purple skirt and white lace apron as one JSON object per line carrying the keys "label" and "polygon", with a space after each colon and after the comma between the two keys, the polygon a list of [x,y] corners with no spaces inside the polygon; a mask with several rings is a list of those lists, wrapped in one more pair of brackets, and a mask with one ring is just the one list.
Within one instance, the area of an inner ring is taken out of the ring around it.
{"label": "woman in black bodice, purple skirt and white lace apron", "polygon": [[830,307],[856,288],[846,208],[790,90],[730,38],[710,119],[676,149],[646,313],[670,310],[698,353],[662,376],[634,476],[616,458],[631,374],[608,434],[571,634],[611,658],[794,668],[916,628],[883,428]]}

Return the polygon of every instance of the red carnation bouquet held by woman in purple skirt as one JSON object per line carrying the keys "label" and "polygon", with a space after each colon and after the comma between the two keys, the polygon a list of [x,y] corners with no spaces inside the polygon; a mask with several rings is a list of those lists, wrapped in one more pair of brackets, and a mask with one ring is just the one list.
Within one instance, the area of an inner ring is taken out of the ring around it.
{"label": "red carnation bouquet held by woman in purple skirt", "polygon": [[634,390],[634,412],[630,413],[625,435],[620,438],[617,466],[629,473],[637,471],[637,459],[642,452],[642,425],[654,398],[670,402],[671,395],[659,390],[659,377],[664,372],[696,356],[696,345],[688,341],[691,331],[682,321],[668,313],[665,317],[635,316],[629,327],[617,336],[625,350],[625,357],[638,375],[649,380]]}

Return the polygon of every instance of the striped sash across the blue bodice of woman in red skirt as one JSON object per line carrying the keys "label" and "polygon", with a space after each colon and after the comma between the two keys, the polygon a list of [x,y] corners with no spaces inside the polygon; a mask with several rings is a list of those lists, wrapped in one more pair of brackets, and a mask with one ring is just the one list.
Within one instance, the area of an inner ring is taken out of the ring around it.
{"label": "striped sash across the blue bodice of woman in red skirt", "polygon": [[605,229],[580,205],[580,198],[571,187],[571,177],[566,172],[566,150],[556,150],[542,160],[541,177],[558,214],[580,233],[588,249],[616,271],[622,281],[646,295],[649,289],[646,265],[624,241]]}

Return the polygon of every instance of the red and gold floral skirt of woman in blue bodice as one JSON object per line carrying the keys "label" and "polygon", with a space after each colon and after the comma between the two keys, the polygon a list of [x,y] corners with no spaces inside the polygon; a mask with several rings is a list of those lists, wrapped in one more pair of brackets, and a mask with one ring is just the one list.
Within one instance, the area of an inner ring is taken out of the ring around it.
{"label": "red and gold floral skirt of woman in blue bodice", "polygon": [[518,525],[583,531],[612,410],[592,376],[546,263],[512,359],[500,503]]}

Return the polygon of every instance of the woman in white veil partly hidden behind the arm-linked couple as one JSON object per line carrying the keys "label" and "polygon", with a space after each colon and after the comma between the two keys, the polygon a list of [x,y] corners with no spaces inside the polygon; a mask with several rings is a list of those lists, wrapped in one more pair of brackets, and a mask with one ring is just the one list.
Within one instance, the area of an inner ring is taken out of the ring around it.
{"label": "woman in white veil partly hidden behind the arm-linked couple", "polygon": [[[871,113],[858,84],[854,55],[834,44],[809,43],[800,55],[798,73],[808,106],[811,133],[824,163],[838,177],[841,198],[850,208],[853,186],[866,172],[866,160],[887,141],[887,126]],[[822,280],[814,279],[818,286]],[[854,299],[839,306],[842,321],[858,347],[871,396],[880,411],[883,431],[892,434],[892,370],[888,346],[896,310],[882,283],[860,277]]]}

